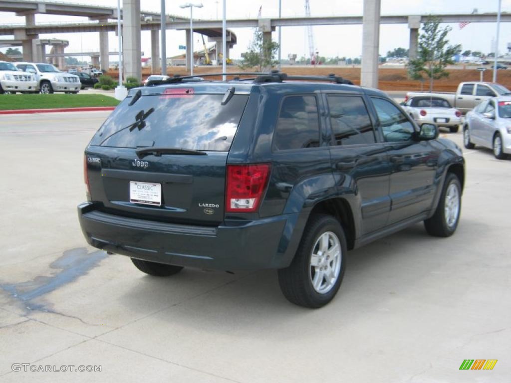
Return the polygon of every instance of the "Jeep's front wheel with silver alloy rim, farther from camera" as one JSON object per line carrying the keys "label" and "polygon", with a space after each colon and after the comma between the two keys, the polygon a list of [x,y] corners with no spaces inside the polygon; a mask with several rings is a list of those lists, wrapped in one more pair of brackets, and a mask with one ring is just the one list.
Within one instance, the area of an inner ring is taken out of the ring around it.
{"label": "Jeep's front wheel with silver alloy rim, farther from camera", "polygon": [[433,217],[424,221],[428,234],[435,237],[448,237],[458,227],[461,212],[461,184],[453,173],[447,173],[442,195]]}

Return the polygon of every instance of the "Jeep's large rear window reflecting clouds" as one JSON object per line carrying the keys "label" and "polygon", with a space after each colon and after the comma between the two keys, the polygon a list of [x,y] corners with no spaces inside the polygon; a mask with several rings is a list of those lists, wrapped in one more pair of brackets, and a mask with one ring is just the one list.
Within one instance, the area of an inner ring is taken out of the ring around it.
{"label": "Jeep's large rear window reflecting clouds", "polygon": [[[233,142],[248,95],[234,95],[221,105],[223,97],[223,94],[145,95],[131,106],[128,104],[132,98],[127,98],[98,130],[91,145],[226,152]],[[130,131],[141,111],[147,114],[145,126]]]}

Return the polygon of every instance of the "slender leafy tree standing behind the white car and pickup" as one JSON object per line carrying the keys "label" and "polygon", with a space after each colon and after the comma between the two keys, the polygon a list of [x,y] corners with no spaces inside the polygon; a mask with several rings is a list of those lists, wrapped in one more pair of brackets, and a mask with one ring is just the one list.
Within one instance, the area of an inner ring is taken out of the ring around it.
{"label": "slender leafy tree standing behind the white car and pickup", "polygon": [[451,28],[440,28],[440,21],[434,16],[426,20],[419,36],[417,58],[408,64],[408,73],[412,79],[424,81],[424,76],[429,79],[429,91],[433,90],[433,80],[449,76],[445,68],[453,63],[453,56],[461,49],[460,45],[447,45],[447,34]]}

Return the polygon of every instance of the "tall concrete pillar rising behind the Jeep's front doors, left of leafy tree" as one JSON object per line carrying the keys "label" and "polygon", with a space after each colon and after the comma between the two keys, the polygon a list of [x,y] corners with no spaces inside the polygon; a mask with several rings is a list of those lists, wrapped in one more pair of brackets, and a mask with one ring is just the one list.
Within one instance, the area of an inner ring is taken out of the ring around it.
{"label": "tall concrete pillar rising behind the Jeep's front doors, left of leafy tree", "polygon": [[381,0],[364,0],[362,16],[362,69],[360,84],[378,88]]}

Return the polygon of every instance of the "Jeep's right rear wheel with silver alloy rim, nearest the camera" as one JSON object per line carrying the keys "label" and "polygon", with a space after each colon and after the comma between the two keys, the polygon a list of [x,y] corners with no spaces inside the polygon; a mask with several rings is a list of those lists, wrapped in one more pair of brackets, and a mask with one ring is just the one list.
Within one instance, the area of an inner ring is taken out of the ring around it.
{"label": "Jeep's right rear wheel with silver alloy rim, nearest the camera", "polygon": [[319,308],[337,294],[346,264],[346,238],[327,214],[311,217],[291,265],[278,270],[284,296],[294,304]]}

